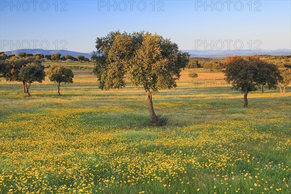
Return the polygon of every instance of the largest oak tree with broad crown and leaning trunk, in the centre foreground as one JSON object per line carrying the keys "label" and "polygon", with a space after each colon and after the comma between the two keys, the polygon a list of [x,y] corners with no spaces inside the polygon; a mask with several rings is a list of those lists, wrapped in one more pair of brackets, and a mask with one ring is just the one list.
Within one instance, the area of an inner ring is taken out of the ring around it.
{"label": "largest oak tree with broad crown and leaning trunk, in the centre foreground", "polygon": [[128,79],[135,87],[142,86],[151,121],[158,124],[152,94],[159,89],[176,87],[181,69],[189,62],[189,54],[161,35],[150,33],[111,32],[96,40],[95,74],[99,88],[123,88]]}

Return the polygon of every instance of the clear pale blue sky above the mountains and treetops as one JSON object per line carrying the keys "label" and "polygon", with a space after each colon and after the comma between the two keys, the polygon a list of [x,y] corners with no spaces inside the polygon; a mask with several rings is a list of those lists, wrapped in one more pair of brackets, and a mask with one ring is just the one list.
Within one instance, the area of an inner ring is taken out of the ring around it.
{"label": "clear pale blue sky above the mountains and treetops", "polygon": [[[56,8],[55,0],[37,0],[35,4],[31,0],[13,1],[14,5],[10,0],[0,0],[0,49],[11,50],[11,41],[17,45],[12,50],[27,47],[27,40],[30,49],[34,47],[33,41],[38,41],[36,48],[40,48],[40,41],[46,41],[49,49],[60,49],[67,43],[64,47],[67,50],[88,53],[95,49],[96,37],[117,29],[129,33],[141,30],[157,32],[178,43],[181,50],[194,50],[197,40],[206,40],[208,43],[211,40],[241,40],[244,49],[249,49],[249,40],[253,47],[259,45],[258,42],[254,43],[259,40],[261,49],[291,49],[291,0],[242,0],[241,11],[241,3],[236,0],[229,4],[229,11],[225,0],[220,1],[223,9],[216,0],[207,1],[210,7],[205,7],[204,0],[110,1],[112,7],[108,7],[108,2],[59,0]],[[144,2],[146,8],[142,11]],[[64,6],[67,11],[60,11]],[[157,11],[161,6],[163,11]],[[48,11],[44,11],[46,9]],[[233,49],[233,42],[230,43],[230,49]],[[223,49],[227,49],[226,45],[225,42]],[[41,48],[46,48],[46,43]],[[204,50],[204,47],[197,49]]]}

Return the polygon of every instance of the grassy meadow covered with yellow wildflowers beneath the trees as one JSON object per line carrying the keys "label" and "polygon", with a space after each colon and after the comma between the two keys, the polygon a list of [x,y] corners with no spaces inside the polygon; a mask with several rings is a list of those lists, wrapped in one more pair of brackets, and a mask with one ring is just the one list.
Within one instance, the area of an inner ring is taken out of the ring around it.
{"label": "grassy meadow covered with yellow wildflowers beneath the trees", "polygon": [[223,73],[195,72],[153,95],[163,127],[143,88],[102,91],[90,70],[62,96],[1,80],[0,194],[290,194],[291,87],[250,92],[244,108]]}

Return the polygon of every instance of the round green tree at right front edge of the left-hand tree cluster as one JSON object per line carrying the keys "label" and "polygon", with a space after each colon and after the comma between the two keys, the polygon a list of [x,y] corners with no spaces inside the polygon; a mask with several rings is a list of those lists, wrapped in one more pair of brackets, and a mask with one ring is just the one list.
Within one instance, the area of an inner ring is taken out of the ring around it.
{"label": "round green tree at right front edge of the left-hand tree cluster", "polygon": [[26,93],[30,97],[29,88],[32,82],[42,82],[45,80],[45,67],[40,63],[29,63],[22,67],[19,72],[19,77],[25,82]]}

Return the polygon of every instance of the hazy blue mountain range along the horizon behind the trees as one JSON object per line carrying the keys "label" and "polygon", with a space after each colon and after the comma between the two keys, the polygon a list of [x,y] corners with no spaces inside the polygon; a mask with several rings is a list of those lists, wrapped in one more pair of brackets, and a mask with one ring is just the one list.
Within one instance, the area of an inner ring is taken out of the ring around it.
{"label": "hazy blue mountain range along the horizon behind the trees", "polygon": [[[18,54],[18,53],[42,53],[46,54],[55,54],[61,53],[62,56],[68,54],[74,57],[78,55],[83,55],[87,58],[91,58],[93,52],[91,53],[79,53],[74,51],[67,50],[43,50],[43,49],[20,49],[15,51],[7,51],[5,54]],[[226,56],[245,56],[245,55],[255,55],[255,54],[269,54],[269,55],[291,55],[290,49],[278,49],[278,50],[183,50],[183,52],[188,52],[192,57],[206,57],[206,58],[214,58],[214,57],[226,57]]]}

